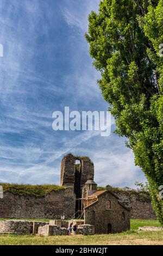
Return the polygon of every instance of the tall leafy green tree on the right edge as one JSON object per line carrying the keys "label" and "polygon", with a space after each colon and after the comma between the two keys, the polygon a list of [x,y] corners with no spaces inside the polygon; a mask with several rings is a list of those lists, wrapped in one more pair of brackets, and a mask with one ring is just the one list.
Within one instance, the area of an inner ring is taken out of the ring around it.
{"label": "tall leafy green tree on the right edge", "polygon": [[163,0],[103,0],[85,36],[115,132],[128,138],[163,224]]}

